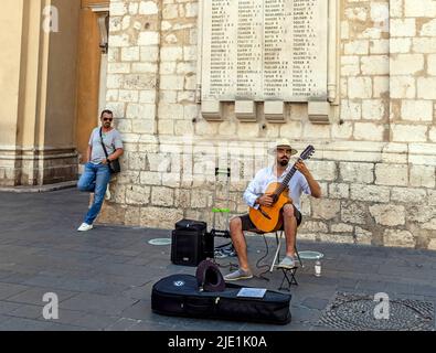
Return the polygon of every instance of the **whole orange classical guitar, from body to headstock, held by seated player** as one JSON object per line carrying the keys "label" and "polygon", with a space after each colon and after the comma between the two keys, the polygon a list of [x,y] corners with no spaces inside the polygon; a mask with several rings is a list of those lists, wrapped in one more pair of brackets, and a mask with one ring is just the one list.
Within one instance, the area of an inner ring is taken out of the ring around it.
{"label": "whole orange classical guitar, from body to headstock, held by seated player", "polygon": [[[313,152],[313,146],[308,146],[302,151],[298,160],[300,161],[310,159]],[[252,220],[257,229],[268,233],[275,232],[281,227],[283,216],[280,211],[285,204],[291,203],[288,196],[288,183],[296,171],[297,169],[294,164],[289,172],[286,174],[283,182],[273,182],[268,184],[265,194],[273,196],[272,206],[259,206],[257,210],[249,207],[249,218]]]}

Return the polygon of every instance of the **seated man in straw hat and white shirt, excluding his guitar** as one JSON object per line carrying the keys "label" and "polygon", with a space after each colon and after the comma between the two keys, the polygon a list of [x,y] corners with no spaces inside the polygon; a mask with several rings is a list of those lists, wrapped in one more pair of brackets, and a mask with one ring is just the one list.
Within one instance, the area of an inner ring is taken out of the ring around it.
{"label": "seated man in straw hat and white shirt, excluding his guitar", "polygon": [[[290,147],[288,140],[283,139],[277,142],[273,152],[276,154],[276,161],[274,165],[258,171],[244,193],[244,201],[251,207],[257,208],[259,205],[273,205],[273,197],[264,193],[268,184],[272,182],[281,182],[285,179],[288,171],[290,171],[293,168],[293,165],[289,164],[290,156],[296,154],[297,150]],[[281,215],[284,220],[283,229],[285,231],[286,235],[286,256],[278,265],[278,267],[281,268],[294,268],[297,266],[295,258],[295,245],[297,227],[301,223],[301,194],[306,193],[316,199],[321,197],[321,188],[313,179],[306,164],[302,161],[299,161],[296,163],[296,169],[297,172],[288,183],[289,197],[291,199],[293,203],[286,204],[281,208]],[[244,231],[257,231],[248,214],[234,217],[230,223],[230,232],[240,260],[240,268],[224,277],[224,279],[227,281],[248,279],[253,277],[253,272],[251,271],[248,265],[247,245],[243,233]]]}

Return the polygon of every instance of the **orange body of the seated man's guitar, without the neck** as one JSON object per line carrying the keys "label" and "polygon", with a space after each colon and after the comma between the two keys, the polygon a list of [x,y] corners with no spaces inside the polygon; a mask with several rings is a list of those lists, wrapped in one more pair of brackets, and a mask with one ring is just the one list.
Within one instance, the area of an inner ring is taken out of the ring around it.
{"label": "orange body of the seated man's guitar, without the neck", "polygon": [[[273,194],[280,183],[270,183],[265,194]],[[283,225],[281,208],[285,204],[290,203],[288,189],[285,189],[277,197],[273,206],[259,206],[259,210],[249,207],[249,218],[257,229],[269,233],[278,231]]]}

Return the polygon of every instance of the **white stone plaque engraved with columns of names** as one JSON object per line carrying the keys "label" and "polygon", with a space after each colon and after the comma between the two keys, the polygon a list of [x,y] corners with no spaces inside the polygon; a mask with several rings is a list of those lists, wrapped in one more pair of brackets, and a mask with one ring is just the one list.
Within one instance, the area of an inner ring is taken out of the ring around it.
{"label": "white stone plaque engraved with columns of names", "polygon": [[203,100],[327,97],[327,0],[205,0]]}

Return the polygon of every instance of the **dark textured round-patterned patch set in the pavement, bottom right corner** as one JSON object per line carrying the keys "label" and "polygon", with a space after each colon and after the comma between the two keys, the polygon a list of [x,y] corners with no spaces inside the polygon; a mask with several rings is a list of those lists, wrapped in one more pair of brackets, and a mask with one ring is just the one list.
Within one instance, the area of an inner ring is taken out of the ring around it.
{"label": "dark textured round-patterned patch set in the pavement, bottom right corner", "polygon": [[[333,302],[325,309],[319,324],[347,331],[435,330],[435,309],[432,302],[392,299],[389,309],[384,307],[383,311],[380,303],[374,301],[374,296],[338,292]],[[380,318],[383,314],[386,317]]]}

